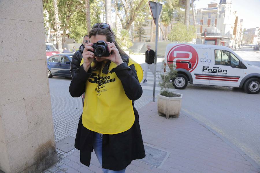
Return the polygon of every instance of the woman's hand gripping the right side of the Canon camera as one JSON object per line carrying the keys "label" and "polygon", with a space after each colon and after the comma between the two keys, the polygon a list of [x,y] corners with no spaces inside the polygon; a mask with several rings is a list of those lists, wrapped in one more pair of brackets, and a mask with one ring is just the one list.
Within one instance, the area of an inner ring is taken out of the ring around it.
{"label": "woman's hand gripping the right side of the Canon camera", "polygon": [[112,42],[106,42],[107,44],[107,48],[109,50],[109,53],[112,53],[109,57],[104,57],[105,59],[109,59],[110,61],[112,61],[113,63],[115,63],[116,65],[120,65],[123,62],[118,49],[116,48],[116,45]]}

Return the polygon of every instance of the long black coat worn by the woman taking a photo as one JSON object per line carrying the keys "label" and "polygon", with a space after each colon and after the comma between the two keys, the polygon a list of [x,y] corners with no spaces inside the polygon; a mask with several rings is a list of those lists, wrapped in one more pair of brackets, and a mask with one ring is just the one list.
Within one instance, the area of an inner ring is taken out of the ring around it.
{"label": "long black coat worn by the woman taking a photo", "polygon": [[[130,100],[137,100],[142,95],[142,87],[138,81],[134,65],[128,67],[127,63],[122,63],[111,72],[115,72],[121,80],[125,94]],[[79,97],[85,92],[86,80],[90,77],[92,69],[86,72],[83,65],[73,76],[70,83],[70,95]],[[87,97],[87,95],[86,95]],[[109,170],[122,170],[126,168],[132,160],[145,157],[144,144],[139,125],[138,112],[132,106],[135,114],[133,126],[122,133],[114,135],[103,134],[102,143],[102,168]],[[75,147],[80,150],[80,162],[86,166],[90,165],[91,152],[93,151],[93,136],[96,132],[91,131],[82,125],[79,119]]]}

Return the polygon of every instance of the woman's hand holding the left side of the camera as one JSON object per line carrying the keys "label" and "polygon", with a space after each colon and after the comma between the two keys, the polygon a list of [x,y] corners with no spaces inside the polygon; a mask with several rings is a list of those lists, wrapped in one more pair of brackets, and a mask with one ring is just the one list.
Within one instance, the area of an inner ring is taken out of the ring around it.
{"label": "woman's hand holding the left side of the camera", "polygon": [[82,53],[82,57],[83,57],[83,68],[86,72],[88,72],[88,69],[90,68],[91,63],[93,62],[95,55],[93,52],[90,52],[89,50],[94,51],[94,49],[92,48],[92,43],[88,43],[85,45],[85,48],[83,50]]}

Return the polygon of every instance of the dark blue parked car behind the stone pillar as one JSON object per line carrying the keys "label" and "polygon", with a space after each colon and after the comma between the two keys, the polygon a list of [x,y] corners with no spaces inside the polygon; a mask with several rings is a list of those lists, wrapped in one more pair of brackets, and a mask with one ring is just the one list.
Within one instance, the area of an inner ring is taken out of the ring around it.
{"label": "dark blue parked car behind the stone pillar", "polygon": [[70,62],[73,53],[60,53],[47,58],[48,76],[64,76],[71,78]]}

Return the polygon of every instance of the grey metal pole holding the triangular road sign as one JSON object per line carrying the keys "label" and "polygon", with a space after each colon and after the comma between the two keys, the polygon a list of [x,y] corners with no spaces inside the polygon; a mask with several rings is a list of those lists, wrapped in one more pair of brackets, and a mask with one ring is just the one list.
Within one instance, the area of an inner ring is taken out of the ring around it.
{"label": "grey metal pole holding the triangular road sign", "polygon": [[159,21],[159,3],[157,2],[156,3],[155,57],[154,57],[154,73],[153,73],[153,101],[155,101],[157,42],[158,42],[158,21]]}

